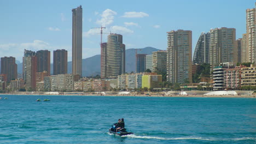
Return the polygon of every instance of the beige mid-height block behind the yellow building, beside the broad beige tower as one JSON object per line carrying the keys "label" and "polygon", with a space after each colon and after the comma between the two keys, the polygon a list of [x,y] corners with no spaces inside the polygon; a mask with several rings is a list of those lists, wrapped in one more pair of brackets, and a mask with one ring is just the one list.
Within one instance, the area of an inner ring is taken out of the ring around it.
{"label": "beige mid-height block behind the yellow building, beside the broad beige tower", "polygon": [[152,52],[152,66],[153,72],[157,71],[166,71],[166,58],[167,52],[166,51],[154,51]]}

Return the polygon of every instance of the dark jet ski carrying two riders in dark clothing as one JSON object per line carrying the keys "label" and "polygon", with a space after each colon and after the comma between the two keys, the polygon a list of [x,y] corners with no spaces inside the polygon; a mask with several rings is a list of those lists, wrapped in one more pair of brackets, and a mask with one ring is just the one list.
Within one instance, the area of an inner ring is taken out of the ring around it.
{"label": "dark jet ski carrying two riders in dark clothing", "polygon": [[124,118],[118,119],[118,123],[114,123],[114,125],[112,125],[112,127],[109,129],[109,133],[117,134],[120,136],[133,134],[132,132],[126,131],[124,127]]}

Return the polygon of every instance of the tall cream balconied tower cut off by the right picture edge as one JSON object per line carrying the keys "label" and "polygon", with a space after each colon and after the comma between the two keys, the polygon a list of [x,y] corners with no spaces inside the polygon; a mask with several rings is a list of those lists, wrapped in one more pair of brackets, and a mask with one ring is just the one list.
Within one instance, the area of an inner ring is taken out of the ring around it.
{"label": "tall cream balconied tower cut off by the right picture edge", "polygon": [[[256,7],[256,2],[255,2]],[[256,62],[256,8],[246,10],[247,62]]]}

